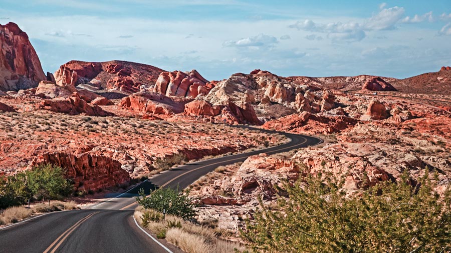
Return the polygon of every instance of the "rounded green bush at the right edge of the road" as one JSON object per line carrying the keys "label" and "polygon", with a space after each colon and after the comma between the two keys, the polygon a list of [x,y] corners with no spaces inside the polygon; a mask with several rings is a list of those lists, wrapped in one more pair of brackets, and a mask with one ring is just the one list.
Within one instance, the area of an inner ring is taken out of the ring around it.
{"label": "rounded green bush at the right edge of the road", "polygon": [[155,209],[168,214],[179,216],[185,220],[192,219],[196,215],[194,207],[196,204],[192,202],[189,192],[178,192],[177,189],[159,188],[146,195],[144,189],[139,190],[140,197],[136,197],[136,201],[146,208]]}

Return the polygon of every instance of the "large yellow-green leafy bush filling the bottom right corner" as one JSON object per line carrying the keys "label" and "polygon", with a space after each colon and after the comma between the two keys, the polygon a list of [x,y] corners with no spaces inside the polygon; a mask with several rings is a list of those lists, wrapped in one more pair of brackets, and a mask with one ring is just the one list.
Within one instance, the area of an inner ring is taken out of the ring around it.
{"label": "large yellow-green leafy bush filling the bottom right corner", "polygon": [[425,174],[415,186],[380,182],[349,197],[342,182],[315,177],[287,186],[277,210],[259,209],[243,238],[255,251],[446,252],[451,250],[451,189],[433,191]]}

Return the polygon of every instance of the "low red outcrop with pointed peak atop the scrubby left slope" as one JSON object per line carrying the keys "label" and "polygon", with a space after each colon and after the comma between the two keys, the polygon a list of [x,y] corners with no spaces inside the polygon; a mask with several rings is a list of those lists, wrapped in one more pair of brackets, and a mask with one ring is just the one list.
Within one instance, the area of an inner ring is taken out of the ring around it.
{"label": "low red outcrop with pointed peak atop the scrubby left slope", "polygon": [[37,107],[40,109],[48,109],[55,112],[76,115],[86,113],[91,116],[111,116],[110,112],[103,110],[98,105],[90,105],[84,100],[78,92],[74,92],[70,97],[56,97],[53,99],[44,99]]}

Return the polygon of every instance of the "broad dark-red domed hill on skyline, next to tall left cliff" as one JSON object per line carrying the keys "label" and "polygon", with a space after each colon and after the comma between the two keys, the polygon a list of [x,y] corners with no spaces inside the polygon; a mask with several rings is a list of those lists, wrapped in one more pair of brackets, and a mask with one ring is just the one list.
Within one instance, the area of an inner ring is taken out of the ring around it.
{"label": "broad dark-red domed hill on skyline, next to tall left cliff", "polygon": [[55,80],[59,85],[89,84],[97,89],[133,93],[138,92],[141,87],[153,87],[162,71],[164,70],[151,65],[121,60],[71,60],[55,72]]}

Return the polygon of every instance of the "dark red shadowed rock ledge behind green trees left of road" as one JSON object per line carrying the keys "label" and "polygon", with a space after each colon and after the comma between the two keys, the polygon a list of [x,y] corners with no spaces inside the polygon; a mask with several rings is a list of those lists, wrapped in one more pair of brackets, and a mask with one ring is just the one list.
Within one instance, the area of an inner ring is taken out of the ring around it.
{"label": "dark red shadowed rock ledge behind green trees left of road", "polygon": [[67,169],[67,177],[74,179],[75,190],[97,191],[129,183],[130,176],[121,163],[103,155],[66,152],[46,152],[38,155],[32,165],[50,163]]}

